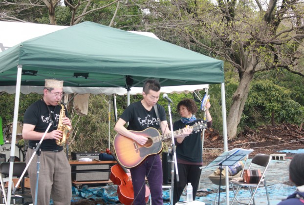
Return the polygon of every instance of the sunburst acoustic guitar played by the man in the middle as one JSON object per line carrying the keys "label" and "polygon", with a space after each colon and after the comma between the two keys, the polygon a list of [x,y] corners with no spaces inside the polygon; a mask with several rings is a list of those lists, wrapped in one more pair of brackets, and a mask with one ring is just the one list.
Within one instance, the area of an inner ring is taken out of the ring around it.
{"label": "sunburst acoustic guitar played by the man in the middle", "polygon": [[[193,130],[202,130],[207,128],[207,124],[203,122],[195,123],[190,126]],[[143,131],[130,132],[146,136],[148,141],[144,145],[136,143],[134,140],[117,134],[114,138],[114,150],[119,164],[127,168],[135,167],[140,164],[146,157],[158,154],[163,149],[163,140],[172,138],[171,132],[165,135],[159,135],[157,129],[149,127]],[[182,129],[174,131],[174,136],[183,132]]]}

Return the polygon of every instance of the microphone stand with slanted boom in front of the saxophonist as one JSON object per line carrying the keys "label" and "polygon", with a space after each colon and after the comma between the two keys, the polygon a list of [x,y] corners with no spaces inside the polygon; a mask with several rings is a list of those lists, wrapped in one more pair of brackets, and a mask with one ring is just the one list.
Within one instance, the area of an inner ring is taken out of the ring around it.
{"label": "microphone stand with slanted boom in front of the saxophonist", "polygon": [[51,127],[52,124],[53,124],[53,121],[51,121],[51,122],[48,124],[48,126],[47,126],[47,128],[46,128],[46,130],[45,130],[45,132],[44,132],[44,134],[43,134],[43,136],[42,136],[42,138],[41,138],[41,140],[39,141],[39,143],[36,144],[36,148],[34,149],[34,153],[32,154],[30,160],[29,160],[28,163],[26,164],[26,166],[25,166],[25,168],[24,168],[24,170],[23,170],[23,172],[22,172],[21,177],[19,178],[17,184],[15,185],[15,188],[14,188],[13,191],[12,191],[12,194],[14,194],[15,191],[17,190],[17,188],[18,188],[18,186],[19,186],[19,184],[20,184],[20,182],[21,182],[21,180],[22,180],[22,178],[23,178],[23,176],[24,176],[24,174],[25,174],[27,168],[28,168],[29,165],[31,164],[32,160],[34,159],[35,154],[37,154],[37,180],[36,180],[36,189],[35,189],[35,201],[34,201],[34,205],[37,205],[38,181],[39,181],[39,170],[40,170],[39,156],[40,156],[40,153],[41,153],[40,145],[41,145],[41,143],[43,142],[44,137],[45,137],[46,133],[48,132],[48,130],[49,130],[49,128]]}

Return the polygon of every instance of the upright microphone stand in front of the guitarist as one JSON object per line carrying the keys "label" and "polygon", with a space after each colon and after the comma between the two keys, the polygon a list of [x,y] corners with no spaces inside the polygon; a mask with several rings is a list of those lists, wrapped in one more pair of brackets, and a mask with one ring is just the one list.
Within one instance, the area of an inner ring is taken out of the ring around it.
{"label": "upright microphone stand in front of the guitarist", "polygon": [[172,162],[171,162],[171,196],[170,196],[170,205],[173,205],[173,192],[174,192],[174,165],[175,165],[175,172],[176,172],[176,182],[179,182],[178,177],[178,169],[176,162],[176,152],[175,152],[175,143],[174,143],[174,132],[173,132],[173,122],[171,116],[171,106],[170,102],[168,101],[168,110],[169,110],[169,119],[170,119],[170,129],[171,129],[171,138],[172,138]]}

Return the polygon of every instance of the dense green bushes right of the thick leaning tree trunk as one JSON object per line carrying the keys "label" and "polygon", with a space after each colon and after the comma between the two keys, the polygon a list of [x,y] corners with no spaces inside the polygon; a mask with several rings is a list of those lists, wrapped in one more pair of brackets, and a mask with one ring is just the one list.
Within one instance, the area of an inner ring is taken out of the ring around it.
{"label": "dense green bushes right of the thick leaning tree trunk", "polygon": [[[248,123],[303,123],[304,107],[290,99],[290,90],[270,80],[254,82],[246,101],[244,113],[251,116]],[[266,122],[263,122],[261,118]]]}

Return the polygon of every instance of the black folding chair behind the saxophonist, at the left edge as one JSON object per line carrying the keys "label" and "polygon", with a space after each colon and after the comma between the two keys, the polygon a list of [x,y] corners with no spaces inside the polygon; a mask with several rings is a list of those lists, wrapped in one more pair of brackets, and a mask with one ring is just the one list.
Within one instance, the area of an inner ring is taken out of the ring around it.
{"label": "black folding chair behind the saxophonist, at the left edge", "polygon": [[[9,162],[4,162],[4,163],[0,164],[0,183],[1,183],[0,199],[2,198],[2,194],[3,194],[5,205],[7,205],[7,200],[6,200],[6,191],[5,191],[5,187],[4,187],[4,182],[8,182],[8,178],[6,178],[6,177],[9,175],[9,166],[10,166]],[[25,167],[26,167],[25,162],[14,162],[13,177],[20,178]],[[27,175],[27,172],[25,173],[25,175]],[[4,178],[3,178],[3,176],[4,176]],[[12,186],[12,188],[14,188],[14,187]],[[22,183],[22,194],[23,193],[24,193],[24,182]],[[14,198],[14,197],[12,197],[12,198]],[[23,199],[22,196],[17,197],[17,198]]]}

